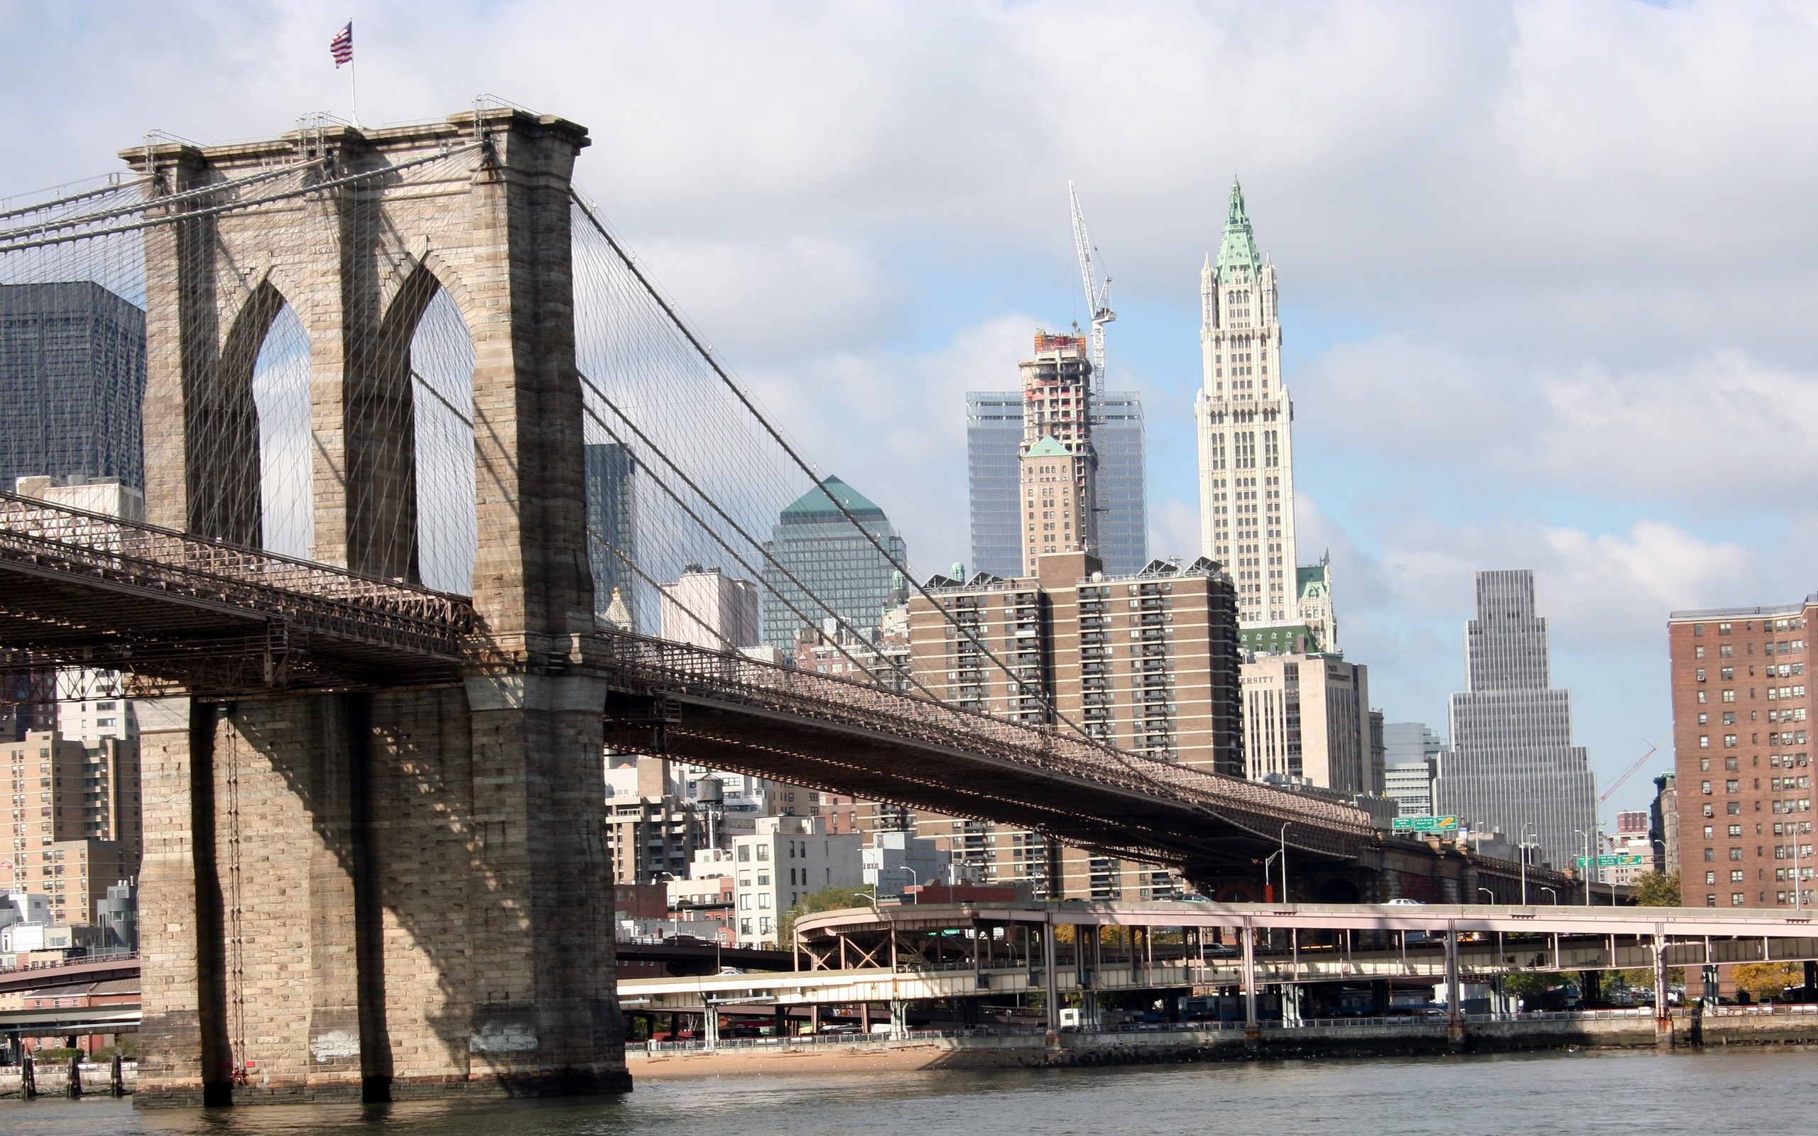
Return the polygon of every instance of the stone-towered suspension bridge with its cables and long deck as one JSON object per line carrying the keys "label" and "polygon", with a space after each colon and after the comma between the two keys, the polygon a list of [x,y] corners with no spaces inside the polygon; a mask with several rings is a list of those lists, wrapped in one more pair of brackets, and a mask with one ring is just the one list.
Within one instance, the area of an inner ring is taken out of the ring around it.
{"label": "stone-towered suspension bridge with its cables and long deck", "polygon": [[[604,622],[604,573],[645,598],[689,560],[764,578],[753,518],[824,474],[576,193],[585,145],[505,105],[153,138],[0,216],[0,284],[145,318],[145,516],[0,494],[5,667],[120,673],[142,705],[142,1094],[225,1101],[249,1069],[276,1096],[627,1087],[605,747],[1205,889],[1280,847],[1320,898],[1402,874],[1513,900],[1514,865],[874,660],[836,678]],[[638,469],[634,543],[589,513],[600,445]]]}

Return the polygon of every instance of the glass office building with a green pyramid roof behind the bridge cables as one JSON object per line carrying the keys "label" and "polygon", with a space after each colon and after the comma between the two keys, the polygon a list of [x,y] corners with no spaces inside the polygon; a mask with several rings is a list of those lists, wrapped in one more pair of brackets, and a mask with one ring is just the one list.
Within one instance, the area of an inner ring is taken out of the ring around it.
{"label": "glass office building with a green pyramid roof behind the bridge cables", "polygon": [[[907,558],[902,536],[884,509],[840,478],[829,476],[822,487],[798,496],[776,518],[771,540],[764,543],[769,553],[764,563],[764,642],[791,654],[800,629],[820,631],[831,616],[856,629],[876,627],[884,609],[900,600],[893,591],[896,567],[891,558],[845,520],[827,500],[829,493],[896,563]],[[831,616],[804,594],[804,587],[833,609]]]}

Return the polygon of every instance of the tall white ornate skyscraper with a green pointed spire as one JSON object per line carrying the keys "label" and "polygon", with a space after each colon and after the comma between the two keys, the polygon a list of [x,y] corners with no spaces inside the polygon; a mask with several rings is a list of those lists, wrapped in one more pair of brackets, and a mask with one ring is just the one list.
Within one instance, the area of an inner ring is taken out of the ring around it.
{"label": "tall white ornate skyscraper with a green pointed spire", "polygon": [[1274,265],[1256,253],[1236,180],[1200,304],[1200,551],[1231,569],[1245,623],[1296,622],[1294,402],[1282,382]]}

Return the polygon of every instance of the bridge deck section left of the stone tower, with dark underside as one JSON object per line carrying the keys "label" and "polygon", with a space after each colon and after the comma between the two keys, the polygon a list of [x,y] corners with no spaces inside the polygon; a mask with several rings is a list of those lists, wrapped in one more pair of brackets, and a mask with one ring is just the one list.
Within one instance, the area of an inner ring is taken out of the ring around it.
{"label": "bridge deck section left of the stone tower, with dark underside", "polygon": [[198,693],[453,682],[464,596],[0,493],[0,645]]}

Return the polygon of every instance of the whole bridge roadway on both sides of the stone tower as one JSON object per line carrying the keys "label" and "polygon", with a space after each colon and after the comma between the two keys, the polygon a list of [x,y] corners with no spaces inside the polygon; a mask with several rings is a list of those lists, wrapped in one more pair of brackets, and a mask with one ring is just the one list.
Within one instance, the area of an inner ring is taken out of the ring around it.
{"label": "whole bridge roadway on both sides of the stone tower", "polygon": [[[453,685],[496,662],[473,603],[156,525],[0,493],[7,667],[127,671],[198,698]],[[1287,845],[1351,863],[1349,805],[1125,754],[925,698],[602,627],[551,674],[593,671],[607,742],[718,769],[1034,829],[1189,878]]]}

